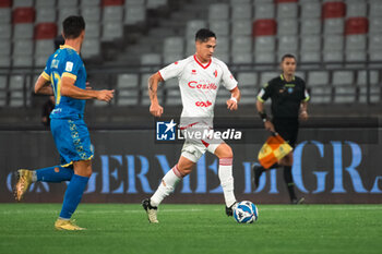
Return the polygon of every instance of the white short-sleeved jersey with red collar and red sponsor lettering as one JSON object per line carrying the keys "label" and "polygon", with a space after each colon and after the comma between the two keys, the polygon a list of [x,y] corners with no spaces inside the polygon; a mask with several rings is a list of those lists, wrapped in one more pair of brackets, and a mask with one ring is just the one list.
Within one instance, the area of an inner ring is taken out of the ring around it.
{"label": "white short-sleeved jersey with red collar and red sponsor lettering", "polygon": [[178,77],[183,105],[182,126],[198,122],[191,119],[210,119],[212,123],[219,85],[231,90],[238,84],[227,65],[216,58],[202,64],[196,56],[190,56],[162,69],[159,74],[164,81]]}

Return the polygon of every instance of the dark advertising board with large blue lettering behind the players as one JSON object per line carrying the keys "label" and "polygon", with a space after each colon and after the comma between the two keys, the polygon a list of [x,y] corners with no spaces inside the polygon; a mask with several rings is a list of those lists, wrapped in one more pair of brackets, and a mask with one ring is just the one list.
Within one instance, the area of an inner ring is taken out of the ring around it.
{"label": "dark advertising board with large blue lettering behind the players", "polygon": [[[308,203],[382,203],[381,130],[307,128],[300,131],[293,174],[299,196]],[[271,170],[253,186],[251,165],[266,140],[262,130],[231,143],[238,199],[288,203],[283,170]],[[96,130],[94,173],[84,202],[138,203],[151,196],[180,156],[181,144],[157,144],[154,130]],[[246,140],[247,138],[247,140]],[[59,156],[48,131],[0,131],[0,202],[13,202],[13,172],[57,165]],[[229,143],[229,142],[227,142]],[[179,183],[168,203],[224,203],[218,161],[206,154]],[[25,202],[62,202],[65,183],[36,183]]]}

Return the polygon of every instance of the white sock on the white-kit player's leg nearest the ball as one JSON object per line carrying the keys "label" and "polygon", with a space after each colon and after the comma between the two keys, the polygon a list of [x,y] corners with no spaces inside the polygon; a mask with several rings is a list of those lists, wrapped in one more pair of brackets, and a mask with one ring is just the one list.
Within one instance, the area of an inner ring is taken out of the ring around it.
{"label": "white sock on the white-kit player's leg nearest the ball", "polygon": [[226,201],[226,206],[230,207],[236,202],[234,194],[232,158],[219,159],[218,176],[224,192],[224,199]]}

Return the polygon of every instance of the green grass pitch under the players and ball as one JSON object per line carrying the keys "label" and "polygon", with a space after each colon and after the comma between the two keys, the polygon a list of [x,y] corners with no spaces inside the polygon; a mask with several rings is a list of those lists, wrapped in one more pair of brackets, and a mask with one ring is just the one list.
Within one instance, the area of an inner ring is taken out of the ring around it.
{"label": "green grass pitch under the players and ball", "polygon": [[382,253],[382,205],[258,205],[239,225],[224,205],[163,204],[150,225],[140,204],[81,204],[76,232],[55,230],[60,208],[0,204],[0,253]]}

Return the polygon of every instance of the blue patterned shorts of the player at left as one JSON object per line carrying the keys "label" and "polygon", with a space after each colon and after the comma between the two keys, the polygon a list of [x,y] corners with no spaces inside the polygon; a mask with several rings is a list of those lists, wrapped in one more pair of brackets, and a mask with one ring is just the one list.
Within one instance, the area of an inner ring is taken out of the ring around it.
{"label": "blue patterned shorts of the player at left", "polygon": [[84,120],[51,119],[50,130],[61,156],[61,166],[93,158],[91,136]]}

